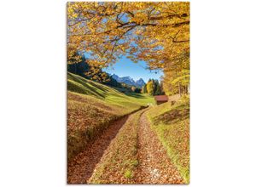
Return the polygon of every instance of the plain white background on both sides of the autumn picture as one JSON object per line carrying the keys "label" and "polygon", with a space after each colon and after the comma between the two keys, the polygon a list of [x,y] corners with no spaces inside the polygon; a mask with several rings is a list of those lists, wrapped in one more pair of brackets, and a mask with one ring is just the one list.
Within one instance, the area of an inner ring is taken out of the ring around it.
{"label": "plain white background on both sides of the autumn picture", "polygon": [[[255,1],[191,3],[191,184],[253,186]],[[0,186],[66,185],[66,1],[3,1]]]}

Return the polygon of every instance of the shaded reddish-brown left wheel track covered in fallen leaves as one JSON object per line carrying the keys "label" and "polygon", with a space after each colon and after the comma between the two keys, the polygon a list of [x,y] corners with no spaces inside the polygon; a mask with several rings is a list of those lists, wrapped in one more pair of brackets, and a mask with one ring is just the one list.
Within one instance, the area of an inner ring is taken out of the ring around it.
{"label": "shaded reddish-brown left wheel track covered in fallen leaves", "polygon": [[93,144],[90,144],[86,150],[76,156],[67,166],[68,184],[86,184],[93,173],[96,163],[99,162],[107,150],[111,140],[119,132],[119,129],[125,124],[128,116],[119,119],[108,127],[108,129],[99,136]]}

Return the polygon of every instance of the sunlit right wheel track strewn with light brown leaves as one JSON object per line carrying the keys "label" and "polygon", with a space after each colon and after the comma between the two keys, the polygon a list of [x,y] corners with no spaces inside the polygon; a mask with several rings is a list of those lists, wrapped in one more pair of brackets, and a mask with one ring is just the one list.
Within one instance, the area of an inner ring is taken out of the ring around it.
{"label": "sunlit right wheel track strewn with light brown leaves", "polygon": [[137,184],[183,184],[177,168],[150,129],[145,113],[140,118],[138,130],[138,160]]}

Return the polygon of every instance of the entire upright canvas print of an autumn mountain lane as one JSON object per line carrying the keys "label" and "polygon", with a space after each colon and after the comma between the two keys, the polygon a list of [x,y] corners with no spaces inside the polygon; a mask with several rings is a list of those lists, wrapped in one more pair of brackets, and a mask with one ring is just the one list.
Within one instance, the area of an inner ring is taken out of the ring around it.
{"label": "entire upright canvas print of an autumn mountain lane", "polygon": [[189,17],[67,3],[67,184],[189,184]]}

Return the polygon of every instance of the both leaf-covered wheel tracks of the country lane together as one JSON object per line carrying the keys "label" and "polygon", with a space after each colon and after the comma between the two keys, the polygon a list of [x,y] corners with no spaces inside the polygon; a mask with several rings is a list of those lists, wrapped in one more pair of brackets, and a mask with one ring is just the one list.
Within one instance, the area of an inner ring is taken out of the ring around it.
{"label": "both leaf-covered wheel tracks of the country lane together", "polygon": [[[131,116],[131,115],[130,115]],[[102,156],[108,155],[109,144],[119,133],[129,116],[114,122],[93,144],[68,163],[67,183],[87,184]],[[145,112],[140,117],[138,127],[137,159],[139,165],[133,178],[136,184],[183,184],[183,179],[151,130]],[[110,177],[109,177],[110,179]],[[111,181],[109,181],[111,183]]]}

